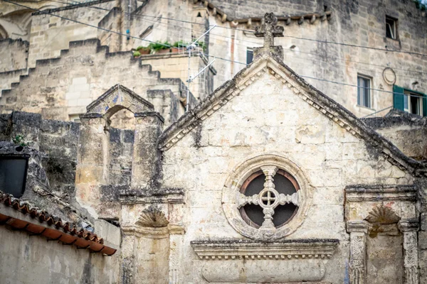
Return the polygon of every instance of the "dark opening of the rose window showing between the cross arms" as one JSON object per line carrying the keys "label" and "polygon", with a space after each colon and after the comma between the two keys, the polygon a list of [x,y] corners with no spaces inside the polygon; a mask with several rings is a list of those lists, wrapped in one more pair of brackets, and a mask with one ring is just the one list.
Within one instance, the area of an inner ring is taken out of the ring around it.
{"label": "dark opening of the rose window showing between the cross arms", "polygon": [[[246,196],[258,195],[264,188],[265,175],[262,171],[253,173],[241,187],[241,192]],[[299,190],[295,178],[284,170],[278,170],[274,176],[275,190],[285,195],[292,195]],[[278,205],[274,209],[273,224],[276,228],[287,224],[297,213],[298,207],[295,204],[288,203]],[[246,224],[259,228],[264,222],[263,208],[255,204],[246,204],[240,209],[243,220]]]}

